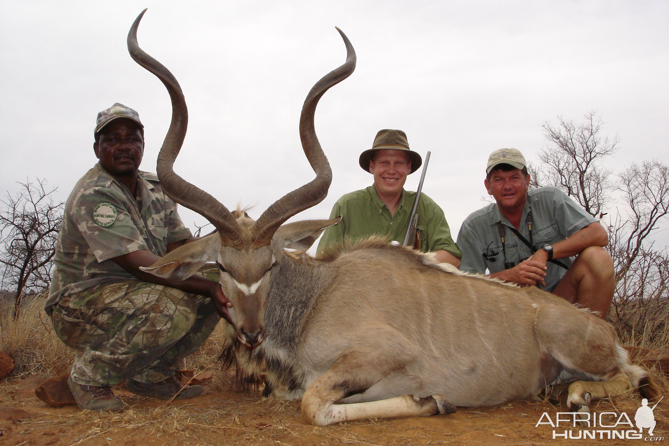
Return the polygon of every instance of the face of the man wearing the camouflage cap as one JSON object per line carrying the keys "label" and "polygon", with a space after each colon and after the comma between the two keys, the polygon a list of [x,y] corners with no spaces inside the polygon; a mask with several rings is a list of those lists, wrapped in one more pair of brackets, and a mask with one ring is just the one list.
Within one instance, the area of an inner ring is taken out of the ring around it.
{"label": "face of the man wearing the camouflage cap", "polygon": [[93,150],[102,168],[114,177],[134,175],[142,162],[144,138],[132,120],[118,118],[100,130]]}

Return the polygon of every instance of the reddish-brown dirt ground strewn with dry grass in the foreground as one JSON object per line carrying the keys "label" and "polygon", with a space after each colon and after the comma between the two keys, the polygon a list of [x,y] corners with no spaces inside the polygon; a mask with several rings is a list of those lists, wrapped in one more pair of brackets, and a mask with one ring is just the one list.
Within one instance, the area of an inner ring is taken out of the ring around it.
{"label": "reddish-brown dirt ground strewn with dry grass in the foreground", "polygon": [[[165,404],[118,390],[127,404],[118,414],[80,411],[76,407],[47,407],[34,396],[43,378],[32,377],[0,384],[0,446],[11,445],[631,445],[644,440],[553,439],[554,428],[537,425],[546,412],[555,421],[558,411],[549,403],[522,401],[498,407],[458,408],[453,415],[355,421],[313,427],[300,415],[299,403],[262,399],[260,394],[208,390],[191,401]],[[214,386],[210,386],[213,388]],[[602,401],[593,411],[625,412],[632,422],[638,397]],[[19,409],[19,410],[17,410]],[[23,412],[25,411],[25,412]],[[669,443],[669,398],[654,411],[654,435]],[[609,418],[608,420],[610,420]],[[546,421],[546,419],[544,419]],[[561,423],[582,435],[578,428]],[[605,428],[598,428],[605,429]],[[632,427],[619,425],[614,430]],[[595,430],[587,429],[587,430]],[[645,440],[648,441],[648,440]]]}

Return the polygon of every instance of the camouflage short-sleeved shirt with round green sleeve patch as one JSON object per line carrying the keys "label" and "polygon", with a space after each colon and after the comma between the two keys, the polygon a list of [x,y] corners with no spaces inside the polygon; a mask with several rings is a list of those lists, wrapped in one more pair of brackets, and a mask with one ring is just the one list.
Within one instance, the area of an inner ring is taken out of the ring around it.
{"label": "camouflage short-sleeved shirt with round green sleeve patch", "polygon": [[100,164],[80,179],[65,205],[54,277],[45,311],[64,296],[118,279],[135,279],[113,257],[140,249],[167,253],[167,244],[191,237],[177,205],[153,173],[139,172],[137,198]]}

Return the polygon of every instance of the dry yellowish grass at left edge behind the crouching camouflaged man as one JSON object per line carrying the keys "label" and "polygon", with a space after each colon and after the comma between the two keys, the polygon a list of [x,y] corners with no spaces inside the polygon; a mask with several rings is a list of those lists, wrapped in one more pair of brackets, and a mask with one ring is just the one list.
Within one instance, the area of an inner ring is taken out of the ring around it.
{"label": "dry yellowish grass at left edge behind the crouching camouflaged man", "polygon": [[45,376],[68,372],[74,350],[63,344],[44,312],[45,295],[37,295],[21,306],[13,318],[13,308],[0,309],[0,349],[9,354],[16,366],[11,376]]}

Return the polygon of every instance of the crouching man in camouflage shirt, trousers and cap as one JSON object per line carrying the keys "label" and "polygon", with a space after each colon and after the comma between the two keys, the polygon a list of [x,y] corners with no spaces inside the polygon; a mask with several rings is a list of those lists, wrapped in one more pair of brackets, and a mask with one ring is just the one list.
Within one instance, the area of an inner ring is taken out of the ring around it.
{"label": "crouching man in camouflage shirt, trousers and cap", "polygon": [[144,126],[122,104],[98,114],[99,162],[66,204],[45,311],[58,336],[78,350],[68,380],[82,409],[120,411],[111,386],[126,380],[136,395],[192,398],[201,386],[175,378],[229,303],[217,269],[182,282],[139,269],[189,243],[177,205],[153,173],[139,171]]}

